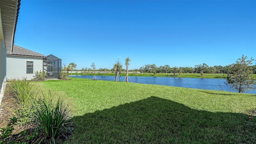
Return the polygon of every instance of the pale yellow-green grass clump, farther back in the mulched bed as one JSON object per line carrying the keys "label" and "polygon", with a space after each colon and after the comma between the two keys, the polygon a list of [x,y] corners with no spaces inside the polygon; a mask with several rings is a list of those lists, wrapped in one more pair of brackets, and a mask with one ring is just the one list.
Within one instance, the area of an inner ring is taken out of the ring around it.
{"label": "pale yellow-green grass clump, farther back in the mulched bed", "polygon": [[26,80],[26,78],[22,79],[12,79],[11,90],[16,97],[16,104],[18,109],[12,110],[14,114],[17,115],[17,122],[21,125],[26,125],[32,122],[32,117],[34,114],[34,98],[37,96],[38,87]]}

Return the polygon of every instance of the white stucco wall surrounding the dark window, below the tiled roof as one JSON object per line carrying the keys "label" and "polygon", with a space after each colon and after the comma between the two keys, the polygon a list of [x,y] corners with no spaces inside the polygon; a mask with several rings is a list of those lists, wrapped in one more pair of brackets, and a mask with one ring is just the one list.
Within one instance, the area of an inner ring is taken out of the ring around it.
{"label": "white stucco wall surrounding the dark window, below the tiled roof", "polygon": [[[33,74],[27,73],[27,61],[34,62]],[[27,78],[31,80],[35,76],[35,72],[43,71],[43,59],[42,58],[26,58],[18,56],[7,56],[6,58],[6,78]]]}

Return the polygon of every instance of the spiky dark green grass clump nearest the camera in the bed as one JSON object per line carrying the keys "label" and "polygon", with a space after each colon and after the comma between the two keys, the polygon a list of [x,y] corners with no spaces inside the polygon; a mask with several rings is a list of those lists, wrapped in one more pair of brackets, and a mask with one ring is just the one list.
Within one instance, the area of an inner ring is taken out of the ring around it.
{"label": "spiky dark green grass clump nearest the camera in the bed", "polygon": [[55,142],[55,138],[63,130],[72,132],[68,128],[65,129],[65,123],[70,118],[70,110],[63,98],[56,96],[56,94],[52,95],[49,91],[48,96],[42,94],[42,97],[36,100],[36,104],[38,105],[35,114],[36,121],[44,133],[40,142],[46,142],[49,139]]}

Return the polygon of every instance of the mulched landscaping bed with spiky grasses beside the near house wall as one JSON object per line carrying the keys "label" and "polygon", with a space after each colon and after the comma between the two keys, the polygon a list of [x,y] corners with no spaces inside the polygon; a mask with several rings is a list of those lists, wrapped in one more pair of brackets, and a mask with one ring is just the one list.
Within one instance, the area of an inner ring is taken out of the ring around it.
{"label": "mulched landscaping bed with spiky grasses beside the near house wall", "polygon": [[[68,109],[66,109],[68,107],[63,103],[62,98],[58,98],[58,96],[54,98],[55,94],[51,95],[50,91],[48,95],[44,94],[43,90],[42,94],[37,94],[36,91],[39,90],[37,84],[31,84],[27,80],[18,81],[21,82],[17,85],[17,90],[20,90],[20,92],[17,92],[18,97],[12,89],[13,85],[9,83],[2,99],[0,106],[0,144],[35,144],[39,142],[48,144],[63,143],[68,140],[68,136],[72,135],[75,125],[72,120],[68,119],[70,116]],[[24,96],[22,96],[23,93]],[[27,96],[29,96],[29,99],[25,98]],[[34,96],[34,98],[30,98],[30,96]],[[23,99],[28,102],[24,102]],[[25,103],[28,105],[25,106]],[[27,110],[30,108],[32,110]],[[31,112],[31,114],[28,112]],[[56,135],[48,136],[52,132],[55,132]]]}

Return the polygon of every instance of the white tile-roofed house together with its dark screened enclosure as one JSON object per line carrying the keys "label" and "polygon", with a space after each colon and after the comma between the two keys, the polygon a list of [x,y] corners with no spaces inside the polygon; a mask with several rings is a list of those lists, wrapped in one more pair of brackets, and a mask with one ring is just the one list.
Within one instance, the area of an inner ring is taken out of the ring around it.
{"label": "white tile-roofed house together with its dark screened enclosure", "polygon": [[13,46],[12,53],[6,54],[6,78],[31,80],[35,72],[44,71],[47,78],[59,78],[61,59],[50,54],[45,56],[20,46]]}

